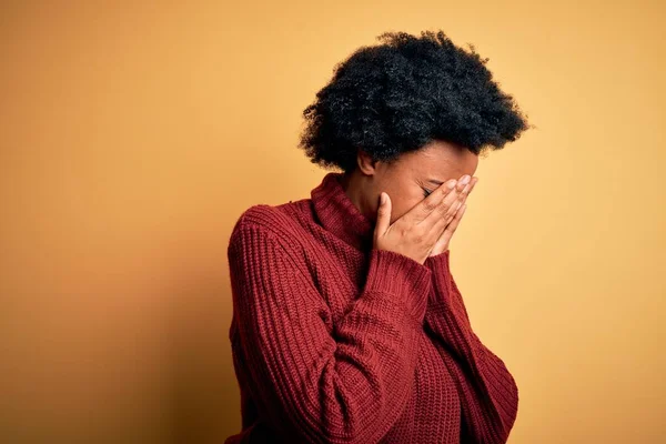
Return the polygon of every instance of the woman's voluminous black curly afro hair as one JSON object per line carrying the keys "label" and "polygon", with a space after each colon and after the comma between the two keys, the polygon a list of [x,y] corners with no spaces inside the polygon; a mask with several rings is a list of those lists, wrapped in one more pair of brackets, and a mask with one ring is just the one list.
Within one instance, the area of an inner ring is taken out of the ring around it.
{"label": "woman's voluminous black curly afro hair", "polygon": [[475,154],[502,149],[528,128],[474,46],[454,46],[444,32],[385,32],[384,44],[361,47],[337,63],[331,82],[304,111],[299,148],[312,163],[356,168],[357,149],[392,162],[432,140]]}

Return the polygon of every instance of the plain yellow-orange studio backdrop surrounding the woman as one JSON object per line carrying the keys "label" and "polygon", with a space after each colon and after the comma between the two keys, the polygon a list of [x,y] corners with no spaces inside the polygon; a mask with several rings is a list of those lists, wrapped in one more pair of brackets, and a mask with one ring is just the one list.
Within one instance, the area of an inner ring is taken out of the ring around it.
{"label": "plain yellow-orange studio backdrop surrounding the woman", "polygon": [[325,174],[296,144],[335,63],[442,29],[537,125],[481,160],[451,246],[509,442],[663,442],[665,3],[151,3],[2,2],[0,441],[238,432],[233,223]]}

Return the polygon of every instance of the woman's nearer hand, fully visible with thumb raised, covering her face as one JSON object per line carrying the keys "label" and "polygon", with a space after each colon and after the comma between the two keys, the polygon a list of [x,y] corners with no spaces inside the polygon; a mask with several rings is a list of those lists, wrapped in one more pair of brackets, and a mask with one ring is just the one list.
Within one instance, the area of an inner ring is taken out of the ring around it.
{"label": "woman's nearer hand, fully visible with thumb raised, covering her face", "polygon": [[392,224],[391,198],[382,192],[385,202],[377,210],[373,248],[403,254],[423,265],[462,204],[465,193],[456,183],[455,179],[447,180]]}

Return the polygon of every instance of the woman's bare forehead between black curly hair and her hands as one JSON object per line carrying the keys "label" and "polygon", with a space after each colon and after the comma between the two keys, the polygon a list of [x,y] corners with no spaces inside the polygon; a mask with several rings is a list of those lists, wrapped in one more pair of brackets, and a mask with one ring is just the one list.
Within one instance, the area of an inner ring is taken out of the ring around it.
{"label": "woman's bare forehead between black curly hair and her hands", "polygon": [[411,154],[406,159],[410,169],[424,180],[446,181],[463,174],[474,175],[478,167],[478,155],[445,141],[430,142]]}

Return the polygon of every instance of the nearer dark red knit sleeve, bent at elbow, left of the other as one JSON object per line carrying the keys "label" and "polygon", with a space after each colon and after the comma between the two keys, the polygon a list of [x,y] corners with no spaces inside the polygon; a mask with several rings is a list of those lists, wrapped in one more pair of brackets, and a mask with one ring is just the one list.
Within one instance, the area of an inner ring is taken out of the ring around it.
{"label": "nearer dark red knit sleeve, bent at elbow, left of the other", "polygon": [[252,398],[294,442],[376,443],[412,390],[431,271],[372,250],[362,291],[329,326],[329,306],[294,250],[256,225],[231,236],[233,353],[246,362]]}

